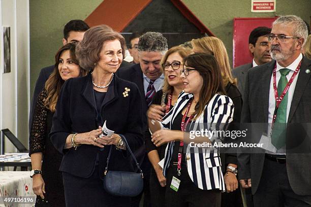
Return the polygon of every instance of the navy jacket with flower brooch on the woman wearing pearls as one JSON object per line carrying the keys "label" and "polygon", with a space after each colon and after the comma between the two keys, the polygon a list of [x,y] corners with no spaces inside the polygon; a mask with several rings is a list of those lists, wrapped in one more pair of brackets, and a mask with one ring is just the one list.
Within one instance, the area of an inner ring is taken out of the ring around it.
{"label": "navy jacket with flower brooch on the woman wearing pearls", "polygon": [[[125,88],[130,88],[129,96],[123,97]],[[123,134],[129,142],[132,151],[143,144],[141,97],[137,86],[131,82],[114,77],[105,99],[102,103],[103,121],[107,120],[107,127],[115,133]],[[54,147],[64,154],[60,171],[71,175],[87,178],[95,168],[96,157],[99,155],[100,175],[106,166],[107,154],[110,146],[103,151],[93,145],[81,145],[75,150],[64,150],[67,136],[71,133],[83,133],[98,128],[97,107],[91,75],[72,78],[65,82],[60,91],[50,138]],[[132,170],[133,164],[123,157],[121,151],[112,147],[109,161],[111,170]],[[130,156],[127,151],[128,156]]]}

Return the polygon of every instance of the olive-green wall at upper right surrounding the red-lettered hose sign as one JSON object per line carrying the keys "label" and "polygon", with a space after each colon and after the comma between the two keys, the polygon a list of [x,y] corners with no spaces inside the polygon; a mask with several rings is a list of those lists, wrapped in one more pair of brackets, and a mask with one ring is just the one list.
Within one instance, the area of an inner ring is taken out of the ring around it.
{"label": "olive-green wall at upper right surrounding the red-lettered hose sign", "polygon": [[276,0],[275,13],[252,13],[251,0],[182,0],[182,2],[220,38],[228,51],[232,63],[233,18],[235,17],[274,17],[297,15],[310,22],[310,0]]}

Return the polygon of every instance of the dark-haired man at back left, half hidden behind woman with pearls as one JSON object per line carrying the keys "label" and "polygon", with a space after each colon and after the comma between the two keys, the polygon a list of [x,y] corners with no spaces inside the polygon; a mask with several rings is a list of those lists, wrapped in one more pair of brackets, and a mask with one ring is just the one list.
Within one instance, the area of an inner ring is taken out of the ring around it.
{"label": "dark-haired man at back left, half hidden behind woman with pearls", "polygon": [[[69,21],[64,27],[64,38],[62,40],[63,45],[67,43],[77,43],[83,39],[85,31],[89,29],[89,26],[80,19],[75,19]],[[29,131],[33,123],[33,115],[36,106],[36,102],[40,92],[43,90],[45,82],[51,75],[54,70],[54,65],[50,65],[48,67],[44,67],[41,69],[39,77],[36,82],[33,99],[30,105],[30,113],[29,113]]]}

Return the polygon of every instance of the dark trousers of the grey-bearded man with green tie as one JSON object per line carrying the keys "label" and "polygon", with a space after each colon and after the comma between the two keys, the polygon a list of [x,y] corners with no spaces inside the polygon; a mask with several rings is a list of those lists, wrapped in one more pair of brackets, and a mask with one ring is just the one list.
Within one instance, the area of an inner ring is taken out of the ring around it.
{"label": "dark trousers of the grey-bearded man with green tie", "polygon": [[254,206],[309,207],[311,196],[297,195],[290,186],[286,163],[265,158],[259,187],[254,195]]}

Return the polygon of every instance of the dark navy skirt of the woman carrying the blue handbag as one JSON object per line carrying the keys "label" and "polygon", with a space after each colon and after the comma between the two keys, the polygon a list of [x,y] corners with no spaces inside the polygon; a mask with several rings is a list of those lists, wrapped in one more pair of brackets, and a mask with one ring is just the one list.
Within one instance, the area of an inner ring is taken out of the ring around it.
{"label": "dark navy skirt of the woman carrying the blue handbag", "polygon": [[68,207],[131,206],[130,197],[110,195],[104,190],[98,166],[90,178],[80,178],[63,172],[63,181]]}

